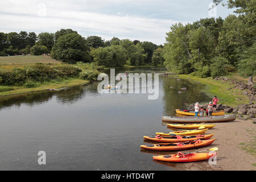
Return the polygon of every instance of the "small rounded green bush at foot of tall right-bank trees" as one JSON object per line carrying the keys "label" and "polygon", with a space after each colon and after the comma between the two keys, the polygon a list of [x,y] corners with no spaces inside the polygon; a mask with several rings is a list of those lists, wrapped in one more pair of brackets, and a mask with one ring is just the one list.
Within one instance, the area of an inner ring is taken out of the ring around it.
{"label": "small rounded green bush at foot of tall right-bank trees", "polygon": [[226,65],[228,64],[228,60],[224,57],[214,57],[211,60],[212,64],[210,64],[210,75],[215,78],[217,76],[226,75],[228,72]]}

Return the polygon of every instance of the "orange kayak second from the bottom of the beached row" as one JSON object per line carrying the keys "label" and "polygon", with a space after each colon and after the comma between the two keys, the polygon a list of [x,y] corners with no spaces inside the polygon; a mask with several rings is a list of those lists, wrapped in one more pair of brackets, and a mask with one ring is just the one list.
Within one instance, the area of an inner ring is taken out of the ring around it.
{"label": "orange kayak second from the bottom of the beached row", "polygon": [[209,144],[212,144],[214,140],[215,139],[193,140],[193,141],[181,142],[181,143],[144,144],[144,145],[141,145],[141,148],[146,150],[154,150],[154,151],[187,150],[191,148],[208,146]]}

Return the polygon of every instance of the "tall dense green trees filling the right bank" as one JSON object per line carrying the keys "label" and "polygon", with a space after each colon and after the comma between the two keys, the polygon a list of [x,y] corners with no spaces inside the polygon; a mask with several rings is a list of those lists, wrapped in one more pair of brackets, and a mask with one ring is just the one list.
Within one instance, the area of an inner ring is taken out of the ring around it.
{"label": "tall dense green trees filling the right bank", "polygon": [[256,75],[256,1],[213,0],[235,8],[235,15],[177,23],[167,33],[164,65],[170,71],[216,77],[238,71],[244,77]]}

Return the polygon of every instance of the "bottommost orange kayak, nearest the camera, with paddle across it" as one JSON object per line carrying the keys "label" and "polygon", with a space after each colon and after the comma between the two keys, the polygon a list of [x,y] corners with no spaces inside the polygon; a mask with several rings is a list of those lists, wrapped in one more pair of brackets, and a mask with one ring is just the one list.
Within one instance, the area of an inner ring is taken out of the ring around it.
{"label": "bottommost orange kayak, nearest the camera, with paddle across it", "polygon": [[199,160],[207,160],[214,156],[216,156],[217,153],[193,153],[193,154],[185,154],[185,157],[179,157],[177,158],[177,154],[174,155],[158,155],[153,156],[154,160],[161,160],[165,162],[174,162],[174,163],[183,163],[183,162],[195,162]]}

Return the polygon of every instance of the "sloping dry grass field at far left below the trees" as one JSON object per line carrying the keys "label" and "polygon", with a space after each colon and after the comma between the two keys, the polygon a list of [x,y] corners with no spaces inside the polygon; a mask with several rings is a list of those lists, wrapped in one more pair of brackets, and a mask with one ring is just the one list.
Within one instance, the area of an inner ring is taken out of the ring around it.
{"label": "sloping dry grass field at far left below the trees", "polygon": [[50,56],[0,56],[0,64],[60,63]]}

